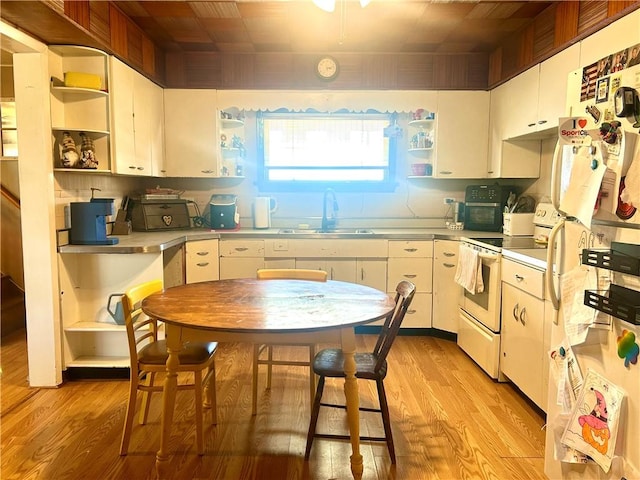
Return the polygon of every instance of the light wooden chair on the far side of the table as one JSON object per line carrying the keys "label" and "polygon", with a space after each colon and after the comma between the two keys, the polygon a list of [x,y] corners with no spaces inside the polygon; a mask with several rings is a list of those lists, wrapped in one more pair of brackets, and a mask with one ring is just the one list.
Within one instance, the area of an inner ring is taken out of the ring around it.
{"label": "light wooden chair on the far side of the table", "polygon": [[[303,268],[262,268],[257,272],[257,278],[259,280],[282,278],[282,279],[300,279],[300,280],[313,280],[316,282],[326,282],[327,272],[324,270],[308,270]],[[260,365],[267,365],[267,388],[271,388],[271,370],[273,365],[293,365],[299,367],[309,368],[309,391],[311,404],[313,404],[313,398],[316,392],[316,379],[311,368],[313,357],[316,354],[315,344],[286,344],[289,346],[307,347],[309,349],[308,361],[292,361],[292,360],[274,360],[273,358],[273,346],[275,344],[260,345],[255,344],[253,346],[253,403],[251,407],[251,414],[255,415],[258,409],[258,369]],[[278,344],[285,345],[285,344]],[[267,358],[261,358],[264,351],[267,351]]]}

